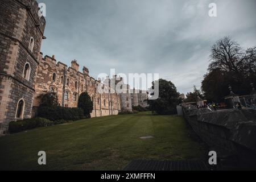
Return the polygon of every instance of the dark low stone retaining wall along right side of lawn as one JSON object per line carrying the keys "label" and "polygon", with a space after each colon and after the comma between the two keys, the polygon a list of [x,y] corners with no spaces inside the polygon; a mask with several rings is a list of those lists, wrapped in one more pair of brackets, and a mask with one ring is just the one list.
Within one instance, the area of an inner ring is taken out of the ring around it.
{"label": "dark low stone retaining wall along right side of lawn", "polygon": [[236,156],[240,167],[256,169],[256,110],[210,111],[184,105],[183,112],[217,156]]}

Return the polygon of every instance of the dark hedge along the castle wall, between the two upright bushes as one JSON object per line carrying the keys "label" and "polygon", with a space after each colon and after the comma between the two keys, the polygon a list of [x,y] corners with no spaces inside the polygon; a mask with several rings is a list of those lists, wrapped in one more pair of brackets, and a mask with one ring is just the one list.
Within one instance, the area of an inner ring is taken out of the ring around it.
{"label": "dark hedge along the castle wall, between the two upright bushes", "polygon": [[84,119],[84,110],[78,107],[40,107],[38,110],[38,116],[49,119],[51,121],[67,121],[67,120],[79,120]]}

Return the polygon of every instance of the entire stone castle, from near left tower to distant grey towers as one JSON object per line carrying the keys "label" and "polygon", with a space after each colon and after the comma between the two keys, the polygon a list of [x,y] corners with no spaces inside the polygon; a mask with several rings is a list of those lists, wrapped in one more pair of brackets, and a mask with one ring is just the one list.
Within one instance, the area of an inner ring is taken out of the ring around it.
{"label": "entire stone castle, from near left tower to distant grey towers", "polygon": [[[40,101],[38,96],[52,92],[63,107],[77,107],[82,92],[93,101],[91,117],[132,111],[133,105],[143,105],[146,95],[131,94],[130,86],[114,76],[114,85],[102,83],[89,76],[76,60],[71,67],[40,52],[46,20],[38,15],[35,0],[0,1],[0,135],[5,134],[9,122],[35,117]],[[122,83],[122,93],[116,86]],[[104,88],[108,92],[99,92]],[[134,97],[134,98],[133,98]],[[133,98],[133,100],[132,100]]]}

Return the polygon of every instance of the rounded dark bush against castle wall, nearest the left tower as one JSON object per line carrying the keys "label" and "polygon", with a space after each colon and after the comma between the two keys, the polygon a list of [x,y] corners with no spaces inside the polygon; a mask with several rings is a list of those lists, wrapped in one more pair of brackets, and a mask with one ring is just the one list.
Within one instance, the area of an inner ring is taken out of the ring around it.
{"label": "rounded dark bush against castle wall, nearest the left tower", "polygon": [[59,105],[58,98],[56,94],[51,92],[46,92],[38,96],[40,100],[39,107],[56,107]]}

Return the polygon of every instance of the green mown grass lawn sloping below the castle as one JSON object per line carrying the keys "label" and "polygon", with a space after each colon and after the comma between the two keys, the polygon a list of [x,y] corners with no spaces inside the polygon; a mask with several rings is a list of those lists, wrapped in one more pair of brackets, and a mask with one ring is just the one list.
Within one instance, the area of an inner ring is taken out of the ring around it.
{"label": "green mown grass lawn sloping below the castle", "polygon": [[[151,135],[154,138],[140,139]],[[47,165],[38,165],[38,151]],[[134,159],[194,159],[205,146],[185,121],[139,113],[84,119],[0,138],[0,169],[119,170]]]}

